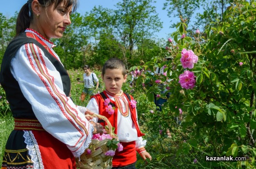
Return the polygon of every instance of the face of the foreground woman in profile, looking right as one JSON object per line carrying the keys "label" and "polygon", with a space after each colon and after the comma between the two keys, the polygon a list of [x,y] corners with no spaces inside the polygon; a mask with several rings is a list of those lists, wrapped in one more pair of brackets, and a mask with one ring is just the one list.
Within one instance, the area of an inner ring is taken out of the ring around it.
{"label": "face of the foreground woman in profile, looking right", "polygon": [[70,14],[72,12],[72,6],[65,8],[60,3],[56,9],[54,5],[48,7],[42,7],[38,20],[38,32],[46,39],[61,38],[67,25],[71,24]]}

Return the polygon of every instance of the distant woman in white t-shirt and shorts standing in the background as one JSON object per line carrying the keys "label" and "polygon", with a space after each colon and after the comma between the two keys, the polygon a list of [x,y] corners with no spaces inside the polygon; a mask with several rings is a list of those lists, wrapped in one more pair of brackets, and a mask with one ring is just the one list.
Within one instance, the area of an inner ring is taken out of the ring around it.
{"label": "distant woman in white t-shirt and shorts standing in the background", "polygon": [[[79,78],[77,80],[78,82],[84,82],[84,89],[80,97],[81,101],[84,101],[87,95],[93,96],[95,94],[94,91],[97,90],[99,87],[99,79],[97,78],[97,75],[95,73],[91,72],[89,65],[84,65],[84,81],[80,81]],[[96,83],[95,86],[94,82]]]}

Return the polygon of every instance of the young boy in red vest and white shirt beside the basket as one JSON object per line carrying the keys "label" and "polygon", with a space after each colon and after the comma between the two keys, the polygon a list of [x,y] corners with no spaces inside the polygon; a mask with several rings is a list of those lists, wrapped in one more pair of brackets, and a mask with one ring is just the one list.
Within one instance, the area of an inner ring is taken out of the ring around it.
{"label": "young boy in red vest and white shirt beside the basket", "polygon": [[144,160],[151,160],[151,155],[144,148],[146,140],[143,140],[144,134],[137,122],[136,101],[121,90],[127,79],[124,63],[117,58],[109,59],[102,68],[102,79],[106,90],[92,96],[87,109],[108,118],[123,146],[123,151],[116,151],[113,156],[112,169],[136,169],[136,151]]}

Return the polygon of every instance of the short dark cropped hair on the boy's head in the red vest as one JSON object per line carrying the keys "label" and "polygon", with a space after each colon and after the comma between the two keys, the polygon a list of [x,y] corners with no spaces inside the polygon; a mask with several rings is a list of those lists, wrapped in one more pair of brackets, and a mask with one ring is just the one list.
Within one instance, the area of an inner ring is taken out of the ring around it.
{"label": "short dark cropped hair on the boy's head in the red vest", "polygon": [[122,69],[122,74],[123,76],[126,75],[126,69],[125,69],[125,64],[124,62],[122,62],[122,60],[118,59],[118,58],[111,58],[108,59],[105,64],[103,65],[102,68],[102,75],[105,75],[106,69]]}

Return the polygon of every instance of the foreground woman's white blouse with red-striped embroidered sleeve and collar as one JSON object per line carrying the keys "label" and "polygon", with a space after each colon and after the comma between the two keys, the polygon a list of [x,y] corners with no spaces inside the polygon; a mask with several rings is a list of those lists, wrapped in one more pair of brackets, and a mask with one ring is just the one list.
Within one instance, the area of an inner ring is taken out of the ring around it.
{"label": "foreground woman's white blouse with red-striped embroidered sleeve and collar", "polygon": [[[52,50],[53,44],[32,29],[26,29],[44,41]],[[55,54],[58,60],[59,57]],[[89,146],[93,126],[63,91],[61,76],[44,52],[35,44],[20,47],[11,62],[11,72],[25,98],[32,105],[44,130],[67,145],[75,157]]]}

